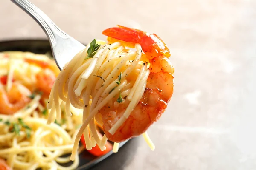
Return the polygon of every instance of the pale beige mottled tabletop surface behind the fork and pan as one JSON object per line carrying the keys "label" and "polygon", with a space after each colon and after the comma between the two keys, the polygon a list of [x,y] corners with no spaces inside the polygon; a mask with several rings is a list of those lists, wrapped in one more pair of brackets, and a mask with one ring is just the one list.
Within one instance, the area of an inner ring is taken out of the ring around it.
{"label": "pale beige mottled tabletop surface behind the fork and pan", "polygon": [[[256,2],[254,0],[32,0],[81,42],[121,24],[158,34],[175,66],[167,111],[140,137],[124,170],[256,169]],[[46,37],[1,0],[0,39]]]}

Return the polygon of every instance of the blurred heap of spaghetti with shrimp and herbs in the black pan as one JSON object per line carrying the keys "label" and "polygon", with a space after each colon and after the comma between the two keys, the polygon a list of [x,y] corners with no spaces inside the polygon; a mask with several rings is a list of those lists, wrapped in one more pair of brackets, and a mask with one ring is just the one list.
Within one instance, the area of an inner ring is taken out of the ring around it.
{"label": "blurred heap of spaghetti with shrimp and herbs in the black pan", "polygon": [[0,158],[13,170],[76,169],[83,147],[70,166],[61,164],[70,162],[81,111],[71,107],[72,117],[61,113],[60,121],[47,125],[50,84],[59,74],[55,62],[20,51],[0,53],[0,61]]}

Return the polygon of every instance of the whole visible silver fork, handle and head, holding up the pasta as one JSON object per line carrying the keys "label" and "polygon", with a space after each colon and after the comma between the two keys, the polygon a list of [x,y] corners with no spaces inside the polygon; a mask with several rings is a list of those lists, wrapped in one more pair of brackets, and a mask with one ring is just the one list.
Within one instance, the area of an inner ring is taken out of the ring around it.
{"label": "whole visible silver fork, handle and head, holding up the pasta", "polygon": [[11,1],[29,14],[44,30],[51,44],[54,60],[60,70],[62,70],[64,65],[79,53],[79,51],[85,48],[83,44],[58,28],[43,11],[28,0]]}

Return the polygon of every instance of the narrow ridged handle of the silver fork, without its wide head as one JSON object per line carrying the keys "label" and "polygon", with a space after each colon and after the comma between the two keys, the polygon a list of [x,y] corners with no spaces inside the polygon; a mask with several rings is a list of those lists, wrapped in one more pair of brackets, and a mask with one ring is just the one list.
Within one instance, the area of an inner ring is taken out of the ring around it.
{"label": "narrow ridged handle of the silver fork, without its wide head", "polygon": [[28,0],[11,0],[17,6],[19,6],[23,11],[29,14],[44,30],[49,41],[52,45],[55,45],[56,38],[62,37],[66,38],[68,35],[64,33],[60,28],[58,28],[43,11],[41,11],[34,4]]}

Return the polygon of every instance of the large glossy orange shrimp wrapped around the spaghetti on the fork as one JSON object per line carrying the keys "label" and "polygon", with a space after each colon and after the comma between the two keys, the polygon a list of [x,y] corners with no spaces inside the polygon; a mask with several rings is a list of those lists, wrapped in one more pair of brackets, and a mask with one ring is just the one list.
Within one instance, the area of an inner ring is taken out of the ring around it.
{"label": "large glossy orange shrimp wrapped around the spaghetti on the fork", "polygon": [[[109,140],[122,142],[144,133],[156,122],[167,108],[173,94],[174,68],[169,61],[169,49],[156,35],[123,26],[108,28],[103,31],[108,40],[139,43],[150,63],[150,74],[146,88],[137,106],[128,119],[111,135],[108,130],[113,127],[128,107],[128,100],[117,108],[105,105],[99,113],[102,115],[103,130]],[[114,39],[113,39],[114,38]]]}

